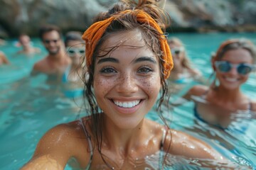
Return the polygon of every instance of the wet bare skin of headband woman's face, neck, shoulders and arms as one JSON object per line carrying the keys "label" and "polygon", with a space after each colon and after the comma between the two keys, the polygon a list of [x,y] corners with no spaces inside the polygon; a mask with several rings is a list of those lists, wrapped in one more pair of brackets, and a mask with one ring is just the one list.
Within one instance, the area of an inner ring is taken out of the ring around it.
{"label": "wet bare skin of headband woman's face, neck, shoulders and arms", "polygon": [[[112,47],[117,48],[109,52]],[[201,140],[176,130],[165,132],[163,125],[144,118],[156,102],[161,81],[159,61],[146,47],[139,30],[113,33],[100,47],[99,56],[102,55],[106,56],[97,57],[95,61],[93,79],[95,98],[103,112],[102,154],[98,152],[92,135],[92,119],[82,119],[92,139],[90,169],[112,166],[114,169],[134,169],[138,163],[140,167],[149,167],[144,158],[159,152],[163,134],[166,134],[163,149],[170,154],[224,161],[218,152]],[[85,132],[80,121],[76,120],[46,132],[31,162],[23,169],[40,165],[63,169],[70,157],[75,157],[78,166],[85,169],[90,162],[89,151]]]}

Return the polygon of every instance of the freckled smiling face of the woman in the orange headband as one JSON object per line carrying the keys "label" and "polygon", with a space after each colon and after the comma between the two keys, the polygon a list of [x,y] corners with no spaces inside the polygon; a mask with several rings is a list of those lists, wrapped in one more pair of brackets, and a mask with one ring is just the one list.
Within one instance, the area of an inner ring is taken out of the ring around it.
{"label": "freckled smiling face of the woman in the orange headband", "polygon": [[135,128],[159,94],[159,61],[139,30],[114,33],[102,43],[99,55],[106,56],[95,62],[97,103],[110,123],[122,129]]}

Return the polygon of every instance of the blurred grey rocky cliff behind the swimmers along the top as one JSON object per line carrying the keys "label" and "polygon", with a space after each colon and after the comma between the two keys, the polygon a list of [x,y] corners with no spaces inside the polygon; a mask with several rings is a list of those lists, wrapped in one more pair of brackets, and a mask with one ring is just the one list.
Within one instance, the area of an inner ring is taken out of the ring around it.
{"label": "blurred grey rocky cliff behind the swimmers along the top", "polygon": [[[0,37],[37,35],[53,23],[63,31],[85,30],[117,0],[0,0]],[[256,31],[256,0],[167,0],[172,31]]]}

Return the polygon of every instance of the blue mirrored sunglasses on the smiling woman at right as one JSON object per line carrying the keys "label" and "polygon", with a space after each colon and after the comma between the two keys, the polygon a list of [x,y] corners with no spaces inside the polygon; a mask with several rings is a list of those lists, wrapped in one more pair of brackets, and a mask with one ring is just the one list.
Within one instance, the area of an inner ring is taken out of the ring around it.
{"label": "blue mirrored sunglasses on the smiling woman at right", "polygon": [[252,71],[255,70],[255,66],[252,64],[245,64],[245,63],[240,63],[240,64],[232,64],[227,61],[216,61],[214,62],[214,65],[216,69],[218,69],[219,72],[230,72],[230,70],[235,67],[237,69],[238,74],[246,75]]}

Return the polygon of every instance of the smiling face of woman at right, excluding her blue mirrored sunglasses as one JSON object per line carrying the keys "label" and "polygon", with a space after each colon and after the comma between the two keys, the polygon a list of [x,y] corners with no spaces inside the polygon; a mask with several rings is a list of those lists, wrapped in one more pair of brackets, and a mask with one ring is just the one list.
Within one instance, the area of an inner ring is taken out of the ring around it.
{"label": "smiling face of woman at right, excluding her blue mirrored sunglasses", "polygon": [[252,64],[252,56],[245,49],[228,50],[224,53],[221,61],[229,62],[233,67],[228,72],[220,72],[216,69],[216,77],[220,85],[226,89],[238,89],[241,84],[247,81],[249,74],[239,74],[238,64]]}

